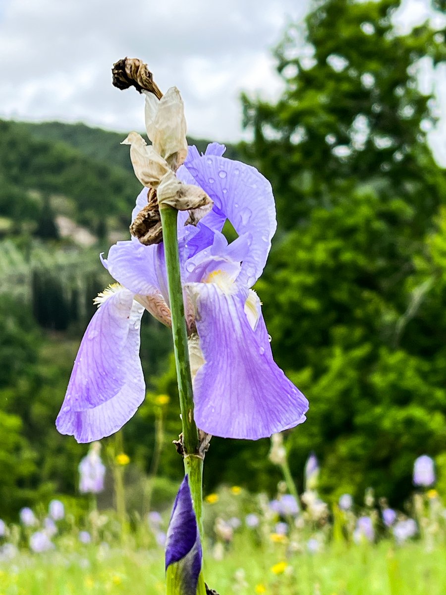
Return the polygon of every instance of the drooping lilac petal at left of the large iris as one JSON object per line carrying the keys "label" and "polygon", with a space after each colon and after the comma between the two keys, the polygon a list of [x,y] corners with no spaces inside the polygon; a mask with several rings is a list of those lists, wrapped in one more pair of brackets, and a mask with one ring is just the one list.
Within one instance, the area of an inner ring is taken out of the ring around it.
{"label": "drooping lilac petal at left of the large iris", "polygon": [[61,434],[78,442],[100,440],[134,415],[145,396],[139,359],[143,311],[124,288],[100,305],[82,339],[56,419]]}

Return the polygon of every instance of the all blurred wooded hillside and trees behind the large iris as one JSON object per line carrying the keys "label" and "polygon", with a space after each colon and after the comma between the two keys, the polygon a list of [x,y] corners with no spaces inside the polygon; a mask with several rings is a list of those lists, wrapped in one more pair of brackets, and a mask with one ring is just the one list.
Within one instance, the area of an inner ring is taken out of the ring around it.
{"label": "all blurred wooded hillside and trees behind the large iris", "polygon": [[[399,4],[325,0],[290,23],[275,49],[284,92],[275,103],[242,97],[253,140],[226,154],[259,168],[277,201],[256,290],[275,359],[310,400],[307,422],[288,436],[291,471],[301,488],[314,450],[323,495],[373,486],[394,506],[412,489],[418,455],[436,459],[446,484],[446,176],[426,142],[435,99],[419,85],[446,46],[428,23],[397,35]],[[77,490],[86,447],[59,436],[54,419],[92,299],[111,281],[98,255],[128,238],[139,183],[122,139],[83,124],[0,121],[4,518]],[[155,396],[169,394],[159,475],[174,493],[170,340],[143,318],[149,395],[123,433],[137,486],[152,465]],[[268,440],[212,439],[205,489],[273,491],[268,450]]]}

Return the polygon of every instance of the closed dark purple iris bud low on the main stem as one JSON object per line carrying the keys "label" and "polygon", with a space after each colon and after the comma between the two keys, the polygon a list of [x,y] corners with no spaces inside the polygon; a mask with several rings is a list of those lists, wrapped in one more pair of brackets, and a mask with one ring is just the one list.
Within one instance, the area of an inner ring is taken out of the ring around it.
{"label": "closed dark purple iris bud low on the main stem", "polygon": [[192,505],[189,478],[181,483],[167,531],[168,595],[196,595],[202,567],[202,546]]}

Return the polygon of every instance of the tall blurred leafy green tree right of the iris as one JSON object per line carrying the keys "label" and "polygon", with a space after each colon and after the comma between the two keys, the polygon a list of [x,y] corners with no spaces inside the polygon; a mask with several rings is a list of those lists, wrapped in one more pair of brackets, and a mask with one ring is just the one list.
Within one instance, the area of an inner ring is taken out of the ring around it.
{"label": "tall blurred leafy green tree right of the iris", "polygon": [[395,503],[413,459],[446,443],[445,230],[430,235],[446,180],[418,83],[446,46],[429,23],[398,34],[399,4],[315,3],[275,51],[281,98],[243,96],[243,149],[281,226],[256,289],[277,361],[310,399],[291,464],[314,449],[326,492],[372,485]]}

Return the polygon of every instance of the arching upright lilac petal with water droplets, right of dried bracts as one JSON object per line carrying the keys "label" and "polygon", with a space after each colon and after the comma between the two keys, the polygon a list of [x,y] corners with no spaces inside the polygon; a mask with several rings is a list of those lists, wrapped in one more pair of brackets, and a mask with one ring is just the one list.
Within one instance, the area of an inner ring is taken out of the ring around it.
{"label": "arching upright lilac petal with water droplets, right of dried bracts", "polygon": [[[254,167],[218,155],[186,161],[187,170],[224,213],[239,236],[246,234],[250,251],[238,283],[252,287],[262,274],[277,224],[271,184]],[[207,217],[203,224],[209,226]]]}

